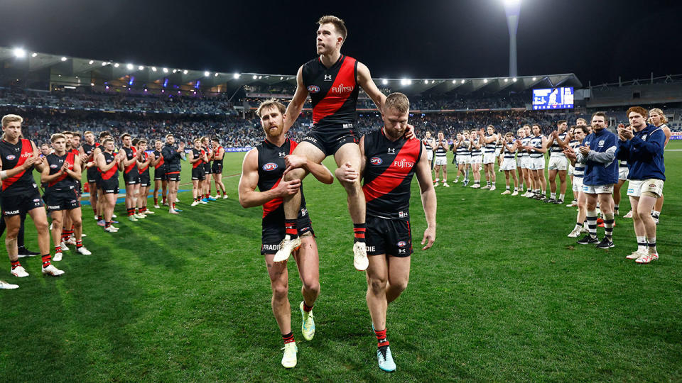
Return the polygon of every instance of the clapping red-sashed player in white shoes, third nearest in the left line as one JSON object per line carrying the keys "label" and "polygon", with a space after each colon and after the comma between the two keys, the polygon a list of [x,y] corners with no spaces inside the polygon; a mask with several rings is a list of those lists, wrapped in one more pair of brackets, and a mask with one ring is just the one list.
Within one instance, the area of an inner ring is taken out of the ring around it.
{"label": "clapping red-sashed player in white shoes, third nearest in the left line", "polygon": [[119,164],[124,161],[126,153],[119,150],[114,155],[114,140],[105,138],[102,141],[104,151],[99,152],[95,161],[99,170],[99,188],[102,189],[102,211],[104,212],[104,231],[116,233],[119,228],[112,225],[112,216],[119,194]]}

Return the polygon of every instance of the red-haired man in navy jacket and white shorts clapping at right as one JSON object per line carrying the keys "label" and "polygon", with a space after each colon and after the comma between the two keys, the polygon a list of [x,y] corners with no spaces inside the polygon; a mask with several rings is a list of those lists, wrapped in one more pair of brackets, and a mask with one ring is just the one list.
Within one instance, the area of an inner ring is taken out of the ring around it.
{"label": "red-haired man in navy jacket and white shorts clapping at right", "polygon": [[637,235],[637,251],[627,258],[637,263],[659,259],[656,250],[656,222],[651,216],[656,199],[663,194],[666,167],[663,152],[666,135],[661,127],[646,123],[646,109],[633,106],[627,110],[630,125],[618,126],[619,160],[626,160],[629,184],[627,195],[632,206],[632,223]]}

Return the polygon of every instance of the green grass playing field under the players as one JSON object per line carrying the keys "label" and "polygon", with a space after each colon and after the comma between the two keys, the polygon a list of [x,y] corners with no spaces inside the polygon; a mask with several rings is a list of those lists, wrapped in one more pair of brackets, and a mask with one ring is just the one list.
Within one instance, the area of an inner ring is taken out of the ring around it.
{"label": "green grass playing field under the players", "polygon": [[[502,173],[497,191],[438,187],[436,243],[416,250],[410,284],[389,306],[393,374],[377,367],[338,182],[305,182],[322,290],[317,333],[305,342],[290,262],[293,370],[280,365],[261,209],[239,206],[239,177],[225,179],[227,200],[190,208],[185,192],[180,216],[156,209],[137,223],[121,219],[115,234],[85,206],[93,255],[65,252],[63,277],[42,277],[39,257],[23,259],[23,279],[2,263],[0,279],[21,287],[0,291],[0,381],[681,381],[682,143],[669,149],[681,151],[665,155],[661,259],[651,265],[624,258],[636,246],[628,219],[617,218],[616,247],[597,250],[566,237],[575,209],[499,195]],[[228,155],[224,174],[238,174],[242,157]],[[425,228],[417,190],[415,181],[416,243]]]}

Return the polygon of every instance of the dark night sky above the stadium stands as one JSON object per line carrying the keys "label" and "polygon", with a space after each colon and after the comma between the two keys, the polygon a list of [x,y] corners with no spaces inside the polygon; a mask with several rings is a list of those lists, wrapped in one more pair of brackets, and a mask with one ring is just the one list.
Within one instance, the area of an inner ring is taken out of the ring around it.
{"label": "dark night sky above the stadium stands", "polygon": [[[0,0],[0,14],[2,46],[274,74],[315,57],[316,21],[333,14],[349,30],[342,52],[372,77],[509,74],[502,0]],[[587,86],[679,74],[681,15],[682,1],[522,0],[519,75],[573,72]]]}

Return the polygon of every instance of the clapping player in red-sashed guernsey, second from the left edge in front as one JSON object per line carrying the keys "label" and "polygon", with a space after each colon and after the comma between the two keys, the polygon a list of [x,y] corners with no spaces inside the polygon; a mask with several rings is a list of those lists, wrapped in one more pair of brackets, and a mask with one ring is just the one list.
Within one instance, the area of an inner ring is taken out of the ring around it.
{"label": "clapping player in red-sashed guernsey, second from the left edge in front", "polygon": [[48,205],[48,213],[52,218],[52,240],[55,244],[53,260],[58,262],[62,260],[61,241],[64,216],[69,216],[73,225],[76,252],[82,255],[90,255],[91,253],[83,246],[80,201],[76,194],[77,180],[82,177],[80,157],[74,152],[66,152],[64,135],[53,134],[50,141],[52,141],[55,152],[44,157],[40,182],[45,184],[43,199]]}

